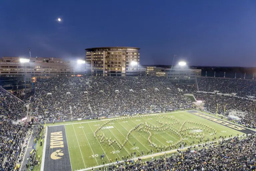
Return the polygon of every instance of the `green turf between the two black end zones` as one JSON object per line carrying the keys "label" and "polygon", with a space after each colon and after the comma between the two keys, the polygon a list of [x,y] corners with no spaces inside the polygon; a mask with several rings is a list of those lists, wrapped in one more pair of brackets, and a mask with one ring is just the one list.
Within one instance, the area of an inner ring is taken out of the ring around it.
{"label": "green turf between the two black end zones", "polygon": [[[105,123],[107,124],[105,125]],[[117,144],[123,144],[128,132],[138,124],[141,124],[141,127],[143,126],[144,128],[140,129],[138,127],[133,130],[128,135],[128,141],[124,147],[120,149]],[[146,124],[148,126],[145,126]],[[101,126],[102,128],[100,129]],[[157,126],[160,129],[159,131],[157,131]],[[198,144],[199,138],[196,138],[197,136],[202,137],[203,142],[205,142],[207,138],[212,141],[215,136],[218,140],[219,136],[227,136],[228,138],[231,134],[233,136],[241,134],[239,131],[188,112],[65,124],[65,130],[73,171],[102,165],[103,161],[105,164],[110,163],[110,160],[115,162],[116,158],[121,161],[122,157],[127,158],[127,155],[129,159],[132,158],[130,154],[134,152],[136,152],[136,157],[138,157],[138,154],[143,156],[142,151],[144,156],[147,156],[148,151],[151,151],[151,149],[154,150],[153,153],[157,153],[157,149],[152,144],[157,145],[158,149],[159,147],[164,147],[163,150],[165,151],[165,146],[172,146],[172,149],[177,149],[178,144],[177,146],[175,144],[180,140],[184,143],[186,142],[188,146],[192,141],[196,141],[196,144]],[[95,137],[96,130],[98,131]],[[209,132],[210,130],[211,132]],[[215,131],[216,134],[214,134]],[[148,141],[149,132],[151,133],[151,144]],[[100,143],[103,135],[104,142]],[[107,138],[111,138],[111,141],[116,140],[116,142],[109,145],[106,142]],[[169,150],[170,147],[167,151]],[[100,156],[103,153],[105,157],[102,160]],[[152,153],[149,152],[149,154]]]}

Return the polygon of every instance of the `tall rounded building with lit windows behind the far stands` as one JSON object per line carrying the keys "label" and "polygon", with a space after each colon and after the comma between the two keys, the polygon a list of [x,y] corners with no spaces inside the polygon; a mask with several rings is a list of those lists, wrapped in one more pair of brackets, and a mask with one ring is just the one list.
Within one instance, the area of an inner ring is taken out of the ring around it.
{"label": "tall rounded building with lit windows behind the far stands", "polygon": [[90,67],[93,76],[134,76],[139,74],[140,48],[96,47],[85,50],[86,64]]}

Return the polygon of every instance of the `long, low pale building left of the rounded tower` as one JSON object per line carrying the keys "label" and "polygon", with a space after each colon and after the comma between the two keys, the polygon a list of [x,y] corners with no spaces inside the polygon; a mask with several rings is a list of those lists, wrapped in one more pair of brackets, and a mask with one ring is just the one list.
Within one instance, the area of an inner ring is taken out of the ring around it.
{"label": "long, low pale building left of the rounded tower", "polygon": [[[70,76],[74,74],[75,68],[70,61],[64,61],[61,58],[31,58],[31,62],[21,63],[20,57],[2,57],[0,59],[0,75],[4,77],[27,77],[31,81],[37,76]],[[28,58],[29,59],[29,58]],[[31,68],[31,69],[30,69]],[[29,76],[28,76],[29,75]]]}

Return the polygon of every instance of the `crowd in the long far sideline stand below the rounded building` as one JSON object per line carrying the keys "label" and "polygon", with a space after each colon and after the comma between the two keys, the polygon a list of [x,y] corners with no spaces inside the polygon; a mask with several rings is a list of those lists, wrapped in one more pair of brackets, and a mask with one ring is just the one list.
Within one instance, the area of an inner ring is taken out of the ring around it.
{"label": "crowd in the long far sideline stand below the rounded building", "polygon": [[38,78],[33,98],[33,115],[45,120],[193,107],[182,92],[161,77]]}

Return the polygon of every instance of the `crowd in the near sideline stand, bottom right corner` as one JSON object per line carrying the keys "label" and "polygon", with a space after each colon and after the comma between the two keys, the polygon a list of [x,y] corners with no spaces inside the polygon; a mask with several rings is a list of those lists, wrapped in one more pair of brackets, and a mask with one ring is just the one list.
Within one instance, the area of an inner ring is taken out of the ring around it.
{"label": "crowd in the near sideline stand, bottom right corner", "polygon": [[[223,140],[220,145],[206,144],[200,150],[188,149],[169,158],[153,159],[146,162],[133,162],[110,166],[115,171],[255,171],[256,136],[245,139],[238,137]],[[123,165],[123,167],[121,166]]]}

